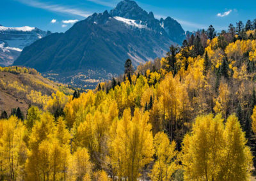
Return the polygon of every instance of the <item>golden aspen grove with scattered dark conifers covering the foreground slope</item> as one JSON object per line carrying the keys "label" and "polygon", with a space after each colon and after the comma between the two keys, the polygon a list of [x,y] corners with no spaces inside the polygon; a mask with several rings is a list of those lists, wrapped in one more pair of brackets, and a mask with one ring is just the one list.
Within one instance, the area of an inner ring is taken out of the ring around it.
{"label": "golden aspen grove with scattered dark conifers covering the foreground slope", "polygon": [[[230,24],[136,70],[128,59],[94,90],[37,82],[49,96],[1,79],[30,106],[24,119],[1,114],[0,180],[252,180],[255,62],[256,30]],[[0,68],[27,71],[38,75]]]}

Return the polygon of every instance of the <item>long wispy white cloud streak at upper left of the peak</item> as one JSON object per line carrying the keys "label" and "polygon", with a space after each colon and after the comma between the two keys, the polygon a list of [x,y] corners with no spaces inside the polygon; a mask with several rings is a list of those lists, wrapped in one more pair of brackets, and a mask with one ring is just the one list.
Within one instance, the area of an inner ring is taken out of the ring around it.
{"label": "long wispy white cloud streak at upper left of the peak", "polygon": [[77,8],[70,8],[68,6],[63,6],[60,4],[50,4],[50,3],[42,3],[36,0],[17,0],[22,4],[26,4],[28,6],[32,6],[35,8],[41,8],[48,11],[54,11],[58,13],[67,13],[71,15],[78,15],[80,17],[88,17],[92,15],[92,13],[88,11],[79,10]]}

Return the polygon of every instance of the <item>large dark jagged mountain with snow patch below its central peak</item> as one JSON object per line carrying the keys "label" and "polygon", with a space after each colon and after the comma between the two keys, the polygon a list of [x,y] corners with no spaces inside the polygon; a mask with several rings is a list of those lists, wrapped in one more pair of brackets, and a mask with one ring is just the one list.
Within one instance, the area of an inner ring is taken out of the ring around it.
{"label": "large dark jagged mountain with snow patch below its central peak", "polygon": [[[28,66],[60,82],[88,88],[134,66],[162,57],[185,32],[173,18],[157,20],[135,1],[124,0],[111,11],[94,13],[65,33],[54,33],[22,50],[14,65]],[[76,80],[73,78],[76,77]]]}

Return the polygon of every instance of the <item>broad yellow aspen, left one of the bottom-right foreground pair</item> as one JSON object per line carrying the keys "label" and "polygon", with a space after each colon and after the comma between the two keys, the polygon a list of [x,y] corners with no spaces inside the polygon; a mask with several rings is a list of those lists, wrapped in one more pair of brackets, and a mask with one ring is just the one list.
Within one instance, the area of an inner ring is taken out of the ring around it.
{"label": "broad yellow aspen, left one of the bottom-right foreground pair", "polygon": [[216,180],[225,146],[223,131],[221,115],[196,118],[191,134],[186,134],[182,143],[185,180]]}

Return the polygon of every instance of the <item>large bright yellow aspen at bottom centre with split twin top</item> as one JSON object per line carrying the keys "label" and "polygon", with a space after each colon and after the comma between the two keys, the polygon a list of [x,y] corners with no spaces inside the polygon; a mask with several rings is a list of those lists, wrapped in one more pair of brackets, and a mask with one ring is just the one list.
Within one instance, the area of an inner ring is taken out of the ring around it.
{"label": "large bright yellow aspen at bottom centre with split twin top", "polygon": [[112,147],[115,148],[113,160],[118,166],[118,177],[136,180],[145,164],[152,161],[153,136],[151,124],[148,123],[148,112],[125,110],[123,119],[118,123],[116,138]]}

